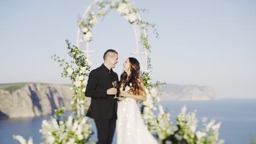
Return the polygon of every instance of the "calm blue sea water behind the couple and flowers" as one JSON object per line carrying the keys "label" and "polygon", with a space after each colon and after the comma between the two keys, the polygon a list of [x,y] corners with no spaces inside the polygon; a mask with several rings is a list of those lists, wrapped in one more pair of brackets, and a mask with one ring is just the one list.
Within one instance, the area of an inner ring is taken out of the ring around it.
{"label": "calm blue sea water behind the couple and flowers", "polygon": [[[219,139],[225,143],[245,144],[249,143],[251,135],[256,138],[256,99],[239,100],[217,100],[217,101],[162,101],[164,108],[171,113],[171,121],[181,112],[182,106],[187,106],[187,111],[197,110],[196,117],[201,119],[207,117],[222,122],[219,131]],[[13,140],[12,135],[24,136],[26,140],[32,136],[34,143],[42,142],[42,135],[39,133],[43,119],[50,119],[50,116],[38,118],[15,118],[3,119],[0,121],[0,143],[19,143]],[[97,140],[95,124],[90,141]],[[116,143],[116,135],[113,143]]]}

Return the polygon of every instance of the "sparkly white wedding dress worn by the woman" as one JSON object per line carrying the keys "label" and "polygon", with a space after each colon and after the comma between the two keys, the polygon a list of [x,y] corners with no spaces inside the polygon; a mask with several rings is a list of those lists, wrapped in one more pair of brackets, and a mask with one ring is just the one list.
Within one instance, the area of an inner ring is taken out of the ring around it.
{"label": "sparkly white wedding dress worn by the woman", "polygon": [[[129,87],[126,86],[127,92]],[[158,143],[149,132],[135,99],[123,98],[118,103],[117,144]]]}

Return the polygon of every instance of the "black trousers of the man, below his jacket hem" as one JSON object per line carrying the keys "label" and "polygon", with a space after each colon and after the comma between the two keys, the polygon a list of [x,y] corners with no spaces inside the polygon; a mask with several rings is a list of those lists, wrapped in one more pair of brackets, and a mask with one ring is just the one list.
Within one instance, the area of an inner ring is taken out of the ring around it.
{"label": "black trousers of the man, below his jacket hem", "polygon": [[98,134],[98,142],[97,144],[111,144],[115,132],[115,123],[117,119],[94,119],[97,134]]}

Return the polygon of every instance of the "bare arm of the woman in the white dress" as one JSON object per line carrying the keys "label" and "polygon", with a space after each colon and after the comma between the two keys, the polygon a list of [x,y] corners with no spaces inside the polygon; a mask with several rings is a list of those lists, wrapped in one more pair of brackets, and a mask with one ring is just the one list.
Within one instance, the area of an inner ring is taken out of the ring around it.
{"label": "bare arm of the woman in the white dress", "polygon": [[[141,84],[142,88],[144,89],[144,84],[143,84],[142,79],[139,79],[139,81],[141,82],[140,84]],[[145,89],[144,89],[144,92],[146,92]],[[133,98],[133,99],[139,100],[139,101],[145,101],[145,100],[147,100],[147,95],[144,92],[140,92],[139,95],[134,95],[134,94],[127,93],[125,91],[120,91],[119,95],[122,97],[126,97],[126,98]]]}

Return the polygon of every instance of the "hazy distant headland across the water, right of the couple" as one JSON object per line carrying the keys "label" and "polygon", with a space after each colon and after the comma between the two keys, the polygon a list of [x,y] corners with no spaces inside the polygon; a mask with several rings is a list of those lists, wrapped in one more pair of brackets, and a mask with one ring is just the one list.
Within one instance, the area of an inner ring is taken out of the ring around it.
{"label": "hazy distant headland across the water, right of the couple", "polygon": [[167,84],[161,100],[217,100],[212,87],[196,85]]}

